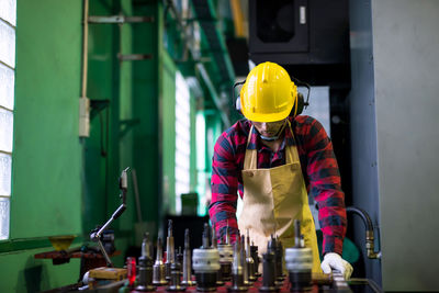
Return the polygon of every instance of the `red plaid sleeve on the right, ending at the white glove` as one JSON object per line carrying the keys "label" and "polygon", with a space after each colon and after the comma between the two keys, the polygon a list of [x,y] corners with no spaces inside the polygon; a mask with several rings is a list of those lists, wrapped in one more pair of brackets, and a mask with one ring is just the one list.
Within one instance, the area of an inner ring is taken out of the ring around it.
{"label": "red plaid sleeve on the right, ending at the white glove", "polygon": [[333,144],[322,124],[307,119],[305,145],[309,193],[318,204],[318,222],[324,235],[323,253],[342,252],[347,219],[345,193],[333,150]]}

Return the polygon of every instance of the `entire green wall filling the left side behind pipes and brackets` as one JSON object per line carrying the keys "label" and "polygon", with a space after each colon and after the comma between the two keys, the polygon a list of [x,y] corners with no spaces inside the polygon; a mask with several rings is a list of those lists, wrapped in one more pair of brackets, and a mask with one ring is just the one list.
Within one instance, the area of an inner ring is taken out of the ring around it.
{"label": "entire green wall filling the left side behind pipes and brackets", "polygon": [[[79,260],[53,266],[34,255],[53,250],[47,236],[77,235],[72,247],[87,244],[90,230],[121,203],[117,178],[127,166],[137,173],[144,223],[138,223],[130,177],[127,210],[111,225],[122,251],[115,266],[122,267],[125,252],[139,246],[138,232],[147,229],[155,237],[160,218],[175,210],[175,77],[183,66],[176,61],[181,44],[172,50],[164,47],[161,1],[90,1],[91,15],[121,12],[153,16],[154,22],[89,25],[87,95],[108,101],[108,106],[93,112],[90,137],[80,139],[82,1],[18,0],[11,227],[10,240],[0,241],[0,268],[8,272],[0,277],[0,292],[75,283]],[[173,33],[170,38],[178,38]],[[121,63],[120,52],[153,58]],[[193,190],[196,105],[191,99]],[[209,120],[215,122],[207,125],[215,136],[217,117],[213,113]]]}

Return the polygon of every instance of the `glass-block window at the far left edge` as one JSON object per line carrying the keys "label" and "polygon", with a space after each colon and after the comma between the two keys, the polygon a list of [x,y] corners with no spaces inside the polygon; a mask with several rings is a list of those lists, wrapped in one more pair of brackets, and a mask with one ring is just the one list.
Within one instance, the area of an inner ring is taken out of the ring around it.
{"label": "glass-block window at the far left edge", "polygon": [[9,238],[16,0],[0,0],[0,239]]}

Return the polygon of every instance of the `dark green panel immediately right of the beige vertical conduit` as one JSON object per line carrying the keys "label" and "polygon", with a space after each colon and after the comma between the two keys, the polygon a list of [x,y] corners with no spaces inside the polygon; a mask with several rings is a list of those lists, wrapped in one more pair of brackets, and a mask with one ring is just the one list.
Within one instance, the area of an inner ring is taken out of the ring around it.
{"label": "dark green panel immediately right of the beige vertical conduit", "polygon": [[[90,1],[90,15],[111,15],[113,9],[103,1]],[[110,180],[110,154],[113,145],[108,137],[110,128],[114,127],[111,114],[119,112],[114,100],[117,92],[113,91],[113,83],[119,83],[115,78],[114,63],[115,48],[114,34],[119,30],[111,24],[89,25],[88,48],[88,89],[87,95],[91,100],[109,100],[109,108],[101,111],[90,121],[90,137],[85,142],[85,176],[83,196],[83,232],[88,233],[98,224],[103,224],[110,216],[109,200],[110,187],[116,183],[116,178]],[[113,190],[113,189],[112,189]]]}

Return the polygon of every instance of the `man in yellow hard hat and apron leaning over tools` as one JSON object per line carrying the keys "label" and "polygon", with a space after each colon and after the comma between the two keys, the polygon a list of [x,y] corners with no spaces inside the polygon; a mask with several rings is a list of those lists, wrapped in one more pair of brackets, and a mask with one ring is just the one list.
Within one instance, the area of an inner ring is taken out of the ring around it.
{"label": "man in yellow hard hat and apron leaning over tools", "polygon": [[[259,251],[271,234],[294,246],[294,219],[313,250],[313,272],[331,268],[350,278],[352,267],[340,256],[346,234],[345,194],[333,145],[322,124],[301,111],[296,86],[285,69],[263,63],[248,75],[240,91],[238,121],[217,139],[212,164],[210,216],[219,239],[226,225],[233,239],[250,233]],[[303,101],[303,99],[302,99]],[[236,221],[237,191],[244,201]],[[324,235],[320,264],[307,191],[318,203]]]}

